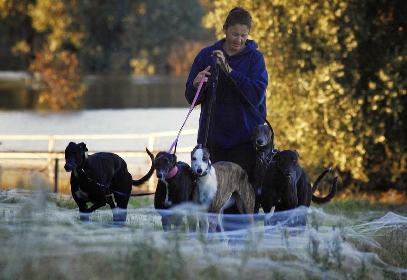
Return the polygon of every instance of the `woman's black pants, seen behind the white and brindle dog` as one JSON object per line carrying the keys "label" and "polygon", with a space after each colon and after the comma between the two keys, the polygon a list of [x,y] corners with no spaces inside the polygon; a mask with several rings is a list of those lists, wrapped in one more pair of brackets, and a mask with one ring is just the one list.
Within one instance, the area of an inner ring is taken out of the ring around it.
{"label": "woman's black pants, seen behind the white and brindle dog", "polygon": [[[220,149],[220,148],[211,148],[207,146],[210,151],[210,158],[212,163],[220,161],[234,162],[246,171],[247,176],[249,177],[249,182],[252,180],[253,169],[256,164],[256,149],[253,143],[249,142],[243,145],[235,146],[229,149]],[[225,209],[225,214],[238,214],[239,210],[236,204]],[[227,224],[227,221],[226,221]],[[228,227],[225,225],[225,229],[233,229],[233,227]]]}

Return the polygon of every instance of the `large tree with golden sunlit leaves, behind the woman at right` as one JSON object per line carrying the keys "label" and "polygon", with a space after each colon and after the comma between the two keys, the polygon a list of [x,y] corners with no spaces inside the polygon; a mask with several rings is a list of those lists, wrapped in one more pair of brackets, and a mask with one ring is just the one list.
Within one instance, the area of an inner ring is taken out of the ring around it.
{"label": "large tree with golden sunlit leaves, behind the woman at right", "polygon": [[[220,35],[237,1],[214,1]],[[269,73],[268,119],[306,169],[390,188],[406,177],[406,7],[397,1],[246,1]],[[317,173],[314,171],[313,173]],[[312,174],[312,173],[311,173]],[[312,176],[314,177],[314,176]]]}

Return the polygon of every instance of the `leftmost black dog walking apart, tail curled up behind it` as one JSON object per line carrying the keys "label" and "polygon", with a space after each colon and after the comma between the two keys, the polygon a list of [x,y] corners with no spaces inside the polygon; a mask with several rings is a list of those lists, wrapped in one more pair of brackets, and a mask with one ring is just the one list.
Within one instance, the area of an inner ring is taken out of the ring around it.
{"label": "leftmost black dog walking apart, tail curled up behind it", "polygon": [[[67,172],[72,171],[71,192],[79,206],[80,219],[88,220],[90,213],[109,204],[113,221],[124,223],[132,186],[147,182],[154,173],[153,158],[151,160],[149,172],[140,180],[134,181],[126,162],[119,155],[108,152],[88,155],[85,143],[70,142],[65,149],[64,168]],[[93,205],[88,207],[88,202]]]}

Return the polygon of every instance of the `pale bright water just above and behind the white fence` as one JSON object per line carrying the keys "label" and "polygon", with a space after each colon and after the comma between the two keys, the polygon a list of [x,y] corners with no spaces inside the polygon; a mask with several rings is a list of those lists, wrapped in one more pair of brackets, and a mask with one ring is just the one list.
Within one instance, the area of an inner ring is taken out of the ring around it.
{"label": "pale bright water just above and behind the white fence", "polygon": [[[157,133],[164,131],[179,131],[189,108],[139,108],[139,109],[98,109],[61,112],[1,111],[0,134],[33,134],[33,135],[59,135],[59,134],[138,134]],[[199,124],[200,108],[195,108],[190,114],[184,130],[197,129]],[[196,136],[193,137],[196,143]],[[168,139],[171,140],[171,139]],[[175,137],[174,139],[175,140]],[[1,141],[1,140],[0,140]],[[180,145],[184,139],[180,138]],[[187,145],[193,145],[188,139]],[[58,143],[56,149],[64,148]],[[168,147],[165,146],[168,145]],[[160,148],[169,148],[171,141],[163,143]],[[107,143],[108,145],[108,143]],[[135,148],[134,143],[128,142],[121,146],[123,150],[143,150]],[[66,145],[65,145],[66,146]],[[108,145],[105,148],[112,148]],[[92,148],[92,146],[91,146]],[[115,147],[116,149],[118,147]],[[3,141],[0,151],[22,151],[36,149],[32,143],[17,143]],[[45,146],[46,149],[46,146]]]}

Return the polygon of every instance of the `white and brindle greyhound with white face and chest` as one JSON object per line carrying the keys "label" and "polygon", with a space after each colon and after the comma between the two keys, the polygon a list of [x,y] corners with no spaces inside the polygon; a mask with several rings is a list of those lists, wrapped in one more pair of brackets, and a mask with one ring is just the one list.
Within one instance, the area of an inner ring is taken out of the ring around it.
{"label": "white and brindle greyhound with white face and chest", "polygon": [[[209,150],[198,144],[191,152],[191,169],[196,175],[195,203],[205,205],[209,213],[222,214],[224,209],[236,202],[239,212],[248,214],[249,222],[253,225],[254,190],[246,172],[238,164],[211,164]],[[215,231],[218,222],[224,233],[220,215],[209,218],[209,232]],[[200,221],[200,226],[206,230],[205,224]]]}

